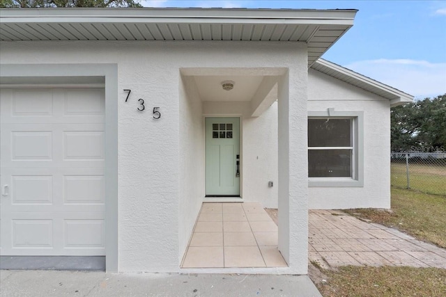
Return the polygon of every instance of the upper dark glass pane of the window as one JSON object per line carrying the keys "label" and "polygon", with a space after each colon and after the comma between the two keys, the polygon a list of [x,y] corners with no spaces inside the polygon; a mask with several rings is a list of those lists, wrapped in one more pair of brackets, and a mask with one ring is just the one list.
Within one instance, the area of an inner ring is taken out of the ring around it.
{"label": "upper dark glass pane of the window", "polygon": [[308,119],[309,147],[351,147],[351,119]]}

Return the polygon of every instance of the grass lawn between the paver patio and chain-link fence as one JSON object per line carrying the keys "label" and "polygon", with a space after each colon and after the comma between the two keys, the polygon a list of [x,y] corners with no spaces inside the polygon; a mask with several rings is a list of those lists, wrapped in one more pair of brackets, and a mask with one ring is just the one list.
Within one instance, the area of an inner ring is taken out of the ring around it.
{"label": "grass lawn between the paver patio and chain-link fence", "polygon": [[353,216],[397,229],[446,248],[446,196],[392,188],[392,211],[349,209]]}

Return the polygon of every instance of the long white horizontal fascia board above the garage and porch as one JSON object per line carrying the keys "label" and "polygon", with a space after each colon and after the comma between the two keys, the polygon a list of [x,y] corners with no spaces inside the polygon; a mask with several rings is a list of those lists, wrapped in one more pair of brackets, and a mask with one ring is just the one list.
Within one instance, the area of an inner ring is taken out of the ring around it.
{"label": "long white horizontal fascia board above the garage and porch", "polygon": [[187,22],[353,25],[356,13],[357,10],[237,8],[8,8],[0,10],[0,22]]}

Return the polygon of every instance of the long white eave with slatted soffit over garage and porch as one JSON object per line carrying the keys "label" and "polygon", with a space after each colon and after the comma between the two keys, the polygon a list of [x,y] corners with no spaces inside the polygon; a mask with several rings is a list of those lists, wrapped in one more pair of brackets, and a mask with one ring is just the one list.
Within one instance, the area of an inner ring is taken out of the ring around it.
{"label": "long white eave with slatted soffit over garage and porch", "polygon": [[7,8],[0,40],[241,40],[307,42],[308,63],[353,26],[357,10]]}

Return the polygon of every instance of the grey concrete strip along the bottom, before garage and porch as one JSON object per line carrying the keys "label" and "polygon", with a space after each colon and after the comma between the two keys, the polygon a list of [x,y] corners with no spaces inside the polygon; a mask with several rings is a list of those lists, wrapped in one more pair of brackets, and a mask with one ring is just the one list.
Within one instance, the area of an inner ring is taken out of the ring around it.
{"label": "grey concrete strip along the bottom, before garage and porch", "polygon": [[307,275],[0,271],[0,296],[321,297]]}

